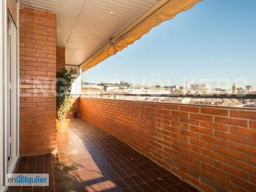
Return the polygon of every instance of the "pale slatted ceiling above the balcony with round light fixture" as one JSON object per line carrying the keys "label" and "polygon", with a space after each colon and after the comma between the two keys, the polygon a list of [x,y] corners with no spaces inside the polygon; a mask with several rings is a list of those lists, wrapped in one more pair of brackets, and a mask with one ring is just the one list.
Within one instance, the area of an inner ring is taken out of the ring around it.
{"label": "pale slatted ceiling above the balcony with round light fixture", "polygon": [[[159,0],[20,0],[23,6],[58,13],[57,45],[66,64],[81,65]],[[109,15],[108,10],[115,10]]]}

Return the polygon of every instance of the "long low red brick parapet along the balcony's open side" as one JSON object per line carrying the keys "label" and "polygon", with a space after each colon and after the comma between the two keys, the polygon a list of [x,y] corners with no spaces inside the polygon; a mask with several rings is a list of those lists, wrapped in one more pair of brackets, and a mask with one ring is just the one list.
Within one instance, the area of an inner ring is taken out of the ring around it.
{"label": "long low red brick parapet along the balcony's open side", "polygon": [[255,191],[256,110],[81,98],[81,117],[202,191]]}

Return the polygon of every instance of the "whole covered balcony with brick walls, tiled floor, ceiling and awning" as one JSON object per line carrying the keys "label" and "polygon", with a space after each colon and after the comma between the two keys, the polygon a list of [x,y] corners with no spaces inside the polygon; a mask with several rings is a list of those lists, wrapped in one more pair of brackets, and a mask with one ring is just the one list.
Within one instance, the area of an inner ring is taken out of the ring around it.
{"label": "whole covered balcony with brick walls, tiled floor, ceiling and awning", "polygon": [[81,97],[56,133],[56,71],[77,68],[80,95],[82,71],[200,0],[109,2],[0,3],[0,191],[14,168],[50,186],[8,191],[255,191],[255,108]]}

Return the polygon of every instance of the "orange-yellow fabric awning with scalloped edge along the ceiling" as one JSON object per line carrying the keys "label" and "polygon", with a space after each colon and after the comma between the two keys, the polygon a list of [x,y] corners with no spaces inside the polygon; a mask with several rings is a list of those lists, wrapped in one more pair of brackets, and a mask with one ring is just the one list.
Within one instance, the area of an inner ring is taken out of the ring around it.
{"label": "orange-yellow fabric awning with scalloped edge along the ceiling", "polygon": [[116,54],[116,52],[122,51],[128,45],[133,44],[136,40],[139,40],[141,36],[148,33],[150,29],[161,24],[161,22],[165,20],[170,20],[178,13],[189,10],[189,8],[194,6],[199,1],[202,0],[173,0],[166,3],[163,7],[159,8],[159,10],[152,13],[150,17],[138,24],[138,26],[131,29],[131,31],[129,31],[128,33],[124,34],[124,36],[121,36],[121,38],[119,38],[119,41],[112,43],[102,52],[99,52],[91,59],[85,61],[81,65],[83,72],[99,64],[101,61],[106,60],[110,56]]}

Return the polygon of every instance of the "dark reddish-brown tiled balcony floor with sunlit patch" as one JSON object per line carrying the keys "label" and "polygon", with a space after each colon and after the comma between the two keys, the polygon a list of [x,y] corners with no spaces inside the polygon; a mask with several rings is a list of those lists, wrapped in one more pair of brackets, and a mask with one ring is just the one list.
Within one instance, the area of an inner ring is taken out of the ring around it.
{"label": "dark reddish-brown tiled balcony floor with sunlit patch", "polygon": [[49,186],[8,191],[198,191],[81,118],[57,134],[57,143],[58,154],[22,157],[17,167],[17,173],[49,173]]}

